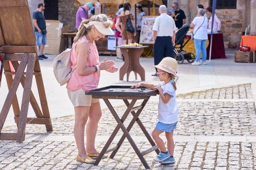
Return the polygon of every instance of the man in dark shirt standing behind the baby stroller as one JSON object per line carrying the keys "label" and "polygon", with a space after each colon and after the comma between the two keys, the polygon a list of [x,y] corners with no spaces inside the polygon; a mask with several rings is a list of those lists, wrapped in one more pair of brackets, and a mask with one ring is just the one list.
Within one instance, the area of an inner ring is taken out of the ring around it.
{"label": "man in dark shirt standing behind the baby stroller", "polygon": [[186,15],[183,10],[179,9],[179,4],[177,2],[174,2],[171,7],[175,10],[173,19],[175,21],[175,25],[179,29],[186,23]]}

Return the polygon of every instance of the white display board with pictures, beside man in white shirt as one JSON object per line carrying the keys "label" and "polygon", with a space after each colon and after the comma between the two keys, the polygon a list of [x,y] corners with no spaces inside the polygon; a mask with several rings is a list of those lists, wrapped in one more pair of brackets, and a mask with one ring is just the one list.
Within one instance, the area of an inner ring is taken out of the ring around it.
{"label": "white display board with pictures, beside man in white shirt", "polygon": [[140,44],[153,44],[153,25],[157,16],[143,17],[142,30],[140,31]]}

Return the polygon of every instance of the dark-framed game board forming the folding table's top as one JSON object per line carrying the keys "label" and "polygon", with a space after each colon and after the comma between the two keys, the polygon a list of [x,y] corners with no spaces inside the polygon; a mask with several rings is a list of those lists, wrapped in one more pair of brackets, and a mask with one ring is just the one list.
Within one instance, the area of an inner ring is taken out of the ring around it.
{"label": "dark-framed game board forming the folding table's top", "polygon": [[158,94],[156,89],[147,89],[146,87],[139,87],[137,89],[131,86],[106,86],[92,91],[87,91],[88,95],[101,96],[150,96]]}

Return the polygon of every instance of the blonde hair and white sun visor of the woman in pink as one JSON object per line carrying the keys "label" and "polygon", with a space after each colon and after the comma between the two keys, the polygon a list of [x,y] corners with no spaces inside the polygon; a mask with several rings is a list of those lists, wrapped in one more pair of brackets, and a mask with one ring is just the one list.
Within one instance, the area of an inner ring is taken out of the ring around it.
{"label": "blonde hair and white sun visor of the woman in pink", "polygon": [[105,25],[106,27],[110,27],[112,25],[112,19],[109,18],[107,15],[105,14],[93,15],[88,20],[82,20],[82,22],[79,25],[77,35],[74,38],[74,42],[77,42],[80,38],[82,38],[82,36],[85,36],[86,34],[88,34],[88,31],[92,30],[93,25],[88,26],[88,28],[86,28],[84,24],[87,24],[93,21],[102,22],[103,25]]}

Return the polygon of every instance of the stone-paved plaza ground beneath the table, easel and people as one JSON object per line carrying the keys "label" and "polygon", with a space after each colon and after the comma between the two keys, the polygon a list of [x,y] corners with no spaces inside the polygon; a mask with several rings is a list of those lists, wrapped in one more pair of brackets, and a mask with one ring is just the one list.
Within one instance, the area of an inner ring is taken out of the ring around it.
{"label": "stone-paved plaza ground beneath the table, easel and people", "polygon": [[[256,169],[256,63],[234,63],[232,54],[228,51],[228,59],[212,60],[208,65],[179,65],[179,123],[174,132],[176,163],[156,163],[156,153],[151,152],[144,156],[151,169]],[[59,87],[54,82],[50,62],[43,60],[41,69],[53,132],[46,132],[43,125],[27,124],[24,142],[0,141],[0,169],[144,169],[127,140],[124,140],[114,159],[103,159],[98,166],[75,161],[74,111],[67,100],[65,87]],[[157,83],[158,79],[150,76],[154,71],[153,60],[141,59],[141,63],[146,71],[146,81]],[[118,74],[103,72],[101,79],[104,76],[100,86],[139,82],[119,81]],[[2,88],[6,85],[2,83],[0,97],[5,95]],[[0,106],[3,100],[2,97]],[[111,102],[121,116],[126,110],[124,103]],[[96,136],[99,151],[117,125],[103,102],[102,107],[103,116]],[[28,115],[34,116],[32,113]],[[140,115],[150,134],[157,115],[158,97],[151,97]],[[12,116],[7,118],[2,132],[17,131],[12,119]],[[131,119],[129,115],[124,125],[127,126]],[[129,133],[141,151],[151,147],[136,123]],[[121,136],[120,130],[110,147],[116,146]]]}

